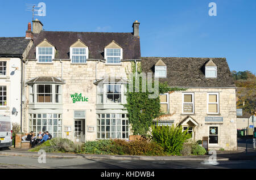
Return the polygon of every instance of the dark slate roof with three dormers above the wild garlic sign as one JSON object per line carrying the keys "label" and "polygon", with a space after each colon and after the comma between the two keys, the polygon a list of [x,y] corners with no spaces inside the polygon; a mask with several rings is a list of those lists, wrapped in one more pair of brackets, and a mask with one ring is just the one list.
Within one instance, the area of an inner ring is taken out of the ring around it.
{"label": "dark slate roof with three dormers above the wild garlic sign", "polygon": [[34,34],[34,45],[27,59],[35,59],[36,45],[46,38],[55,46],[55,59],[70,59],[70,46],[80,39],[89,47],[89,59],[104,59],[104,48],[113,40],[123,48],[123,59],[139,59],[141,57],[140,41],[132,33],[112,32],[65,32],[42,31]]}

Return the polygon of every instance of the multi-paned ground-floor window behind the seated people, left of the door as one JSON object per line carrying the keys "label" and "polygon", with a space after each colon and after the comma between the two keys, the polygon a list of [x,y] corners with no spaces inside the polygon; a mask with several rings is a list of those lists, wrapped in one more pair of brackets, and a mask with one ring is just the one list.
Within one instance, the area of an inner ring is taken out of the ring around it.
{"label": "multi-paned ground-floor window behind the seated people, left of the door", "polygon": [[62,137],[61,114],[29,114],[29,131],[35,135],[48,131],[52,138]]}

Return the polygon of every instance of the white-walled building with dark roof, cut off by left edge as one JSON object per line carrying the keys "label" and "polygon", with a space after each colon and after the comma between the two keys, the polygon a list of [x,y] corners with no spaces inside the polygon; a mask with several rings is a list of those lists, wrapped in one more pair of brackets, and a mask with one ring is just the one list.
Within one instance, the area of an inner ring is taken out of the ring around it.
{"label": "white-walled building with dark roof, cut off by left edge", "polygon": [[0,115],[9,116],[13,123],[21,122],[23,59],[31,45],[30,38],[0,37]]}

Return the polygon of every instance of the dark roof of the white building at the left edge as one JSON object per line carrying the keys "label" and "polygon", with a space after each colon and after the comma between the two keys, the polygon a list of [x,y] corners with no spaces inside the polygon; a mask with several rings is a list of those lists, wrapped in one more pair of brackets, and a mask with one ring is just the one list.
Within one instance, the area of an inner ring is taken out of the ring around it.
{"label": "dark roof of the white building at the left edge", "polygon": [[0,37],[0,55],[22,55],[30,41],[25,37]]}

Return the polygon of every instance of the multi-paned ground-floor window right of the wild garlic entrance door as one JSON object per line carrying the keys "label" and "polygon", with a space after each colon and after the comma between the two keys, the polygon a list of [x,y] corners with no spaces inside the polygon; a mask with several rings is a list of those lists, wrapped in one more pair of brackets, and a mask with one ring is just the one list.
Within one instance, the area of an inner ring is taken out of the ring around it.
{"label": "multi-paned ground-floor window right of the wild garlic entrance door", "polygon": [[127,114],[97,114],[97,139],[128,139]]}

